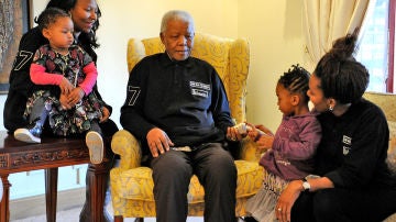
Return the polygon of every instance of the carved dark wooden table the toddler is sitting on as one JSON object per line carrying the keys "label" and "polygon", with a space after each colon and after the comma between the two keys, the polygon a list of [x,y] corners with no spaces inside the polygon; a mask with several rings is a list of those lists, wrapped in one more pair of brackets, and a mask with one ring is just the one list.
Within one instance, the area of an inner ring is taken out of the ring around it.
{"label": "carved dark wooden table the toddler is sitting on", "polygon": [[56,221],[57,176],[58,167],[78,164],[89,164],[87,170],[87,187],[90,199],[89,221],[102,222],[108,157],[101,164],[89,163],[89,152],[81,138],[44,137],[41,144],[29,144],[16,141],[13,135],[0,131],[0,177],[3,181],[3,198],[0,204],[0,222],[10,221],[10,174],[36,169],[45,170],[46,221]]}

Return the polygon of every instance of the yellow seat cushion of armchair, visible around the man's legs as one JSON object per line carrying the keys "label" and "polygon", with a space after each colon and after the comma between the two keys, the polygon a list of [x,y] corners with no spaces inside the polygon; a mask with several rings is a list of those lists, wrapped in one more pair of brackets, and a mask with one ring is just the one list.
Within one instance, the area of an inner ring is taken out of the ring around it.
{"label": "yellow seat cushion of armchair, visible around the man's legs", "polygon": [[[235,165],[238,168],[237,198],[253,196],[262,186],[263,168],[256,162],[235,160]],[[116,182],[113,188],[118,196],[127,199],[154,201],[151,168],[138,167],[125,171],[113,168],[111,174],[117,174],[113,175],[112,178],[116,178],[116,181],[112,182]],[[187,195],[188,202],[204,202],[204,187],[194,175]]]}

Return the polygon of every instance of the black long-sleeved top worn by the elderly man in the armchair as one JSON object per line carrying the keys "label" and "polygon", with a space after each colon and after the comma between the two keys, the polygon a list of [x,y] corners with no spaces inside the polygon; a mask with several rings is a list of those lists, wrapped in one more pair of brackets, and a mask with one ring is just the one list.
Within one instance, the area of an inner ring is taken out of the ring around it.
{"label": "black long-sleeved top worn by the elderly man in the armchair", "polygon": [[175,146],[222,142],[233,125],[223,84],[208,63],[189,57],[173,62],[166,53],[143,58],[132,69],[122,126],[146,145],[157,126]]}

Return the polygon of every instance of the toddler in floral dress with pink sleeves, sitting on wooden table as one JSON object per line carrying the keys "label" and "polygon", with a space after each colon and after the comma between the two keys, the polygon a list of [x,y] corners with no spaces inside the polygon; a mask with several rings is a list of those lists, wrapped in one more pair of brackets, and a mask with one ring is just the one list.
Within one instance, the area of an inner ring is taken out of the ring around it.
{"label": "toddler in floral dress with pink sleeves, sitting on wooden table", "polygon": [[74,24],[65,11],[46,9],[37,23],[50,44],[36,51],[30,69],[36,86],[28,99],[24,116],[31,125],[15,130],[14,136],[28,143],[41,143],[48,119],[55,135],[86,134],[91,162],[99,164],[103,155],[99,121],[105,102],[92,92],[98,76],[95,63],[81,47],[74,45]]}

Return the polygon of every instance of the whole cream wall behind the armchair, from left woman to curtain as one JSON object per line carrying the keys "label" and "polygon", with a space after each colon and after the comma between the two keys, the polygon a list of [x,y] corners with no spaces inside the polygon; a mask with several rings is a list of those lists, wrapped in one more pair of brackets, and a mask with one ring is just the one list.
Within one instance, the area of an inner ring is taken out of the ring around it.
{"label": "whole cream wall behind the armchair, from left woman to curtain", "polygon": [[[112,104],[112,120],[119,124],[119,110],[128,81],[125,52],[129,37],[157,36],[166,11],[183,9],[195,18],[196,31],[227,37],[245,37],[251,47],[248,82],[248,121],[275,130],[280,121],[275,84],[292,64],[302,64],[302,0],[98,0],[102,11],[97,49],[98,85]],[[34,0],[35,14],[46,0]],[[1,110],[4,96],[0,96]],[[2,119],[1,119],[1,129]]]}

